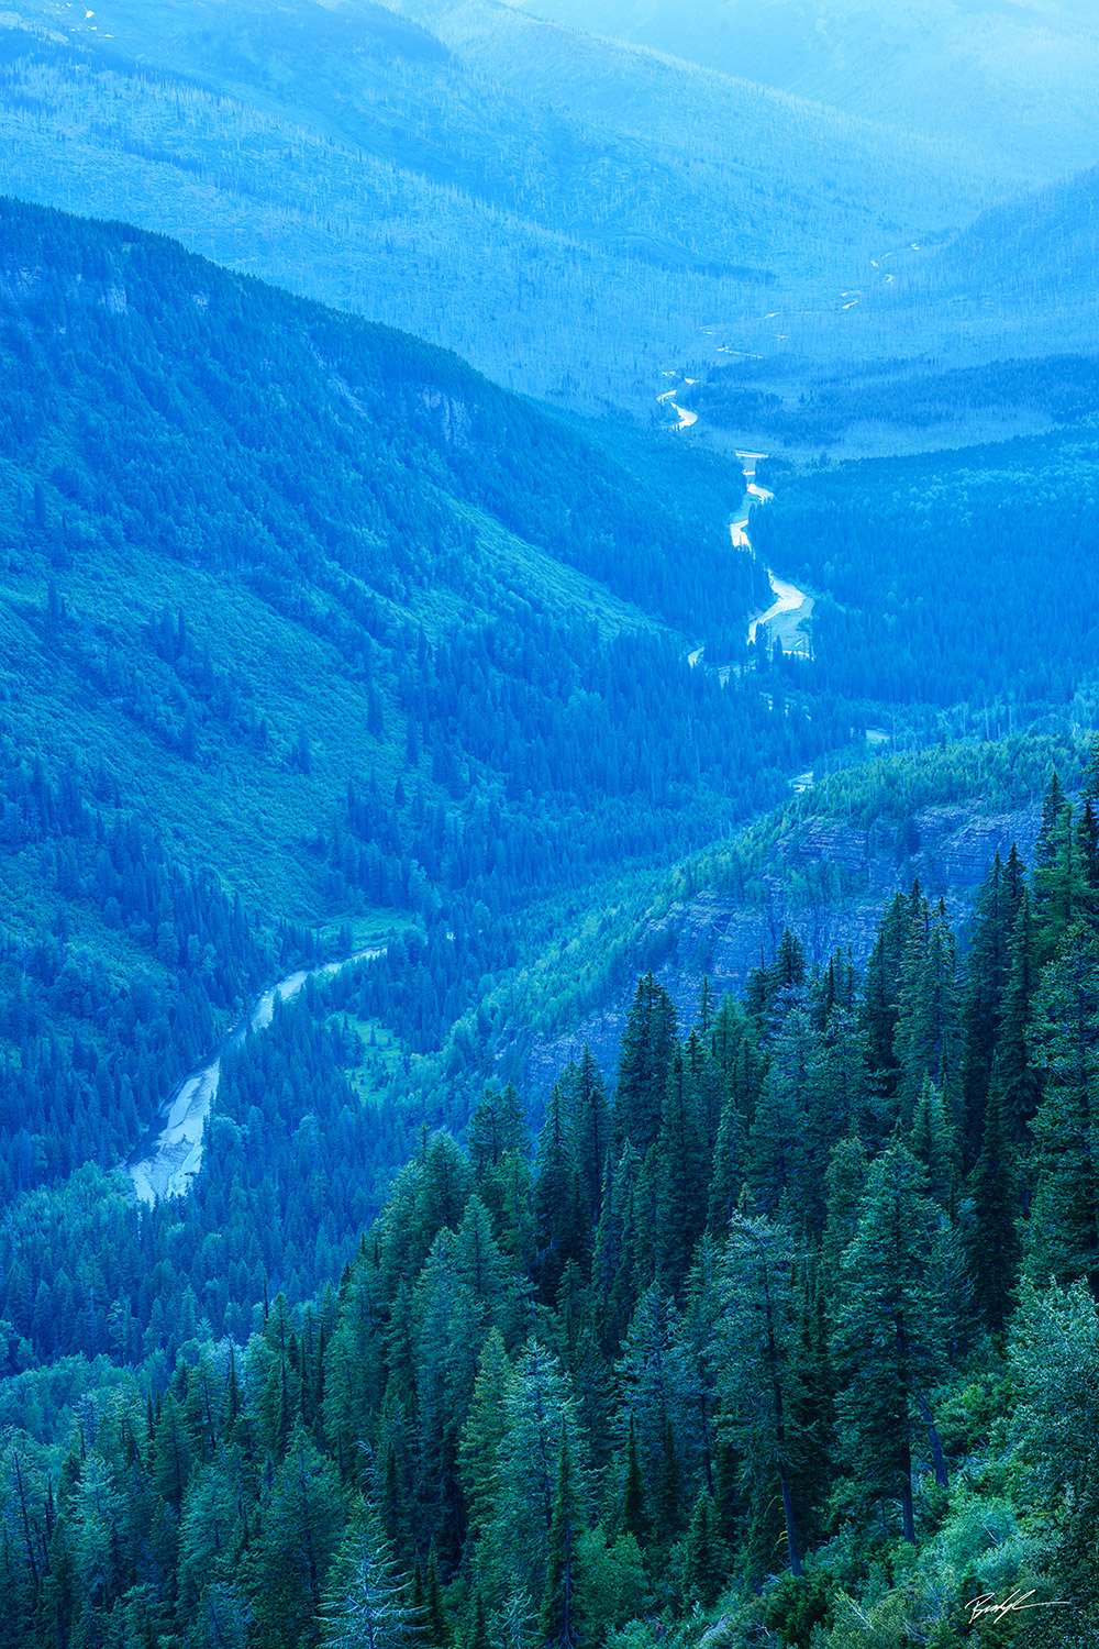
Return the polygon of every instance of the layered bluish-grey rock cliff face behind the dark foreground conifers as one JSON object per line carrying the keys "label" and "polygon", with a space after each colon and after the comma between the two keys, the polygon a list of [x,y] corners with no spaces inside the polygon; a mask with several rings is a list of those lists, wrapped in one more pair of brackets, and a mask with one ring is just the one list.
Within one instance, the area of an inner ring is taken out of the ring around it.
{"label": "layered bluish-grey rock cliff face behind the dark foreground conifers", "polygon": [[[694,1021],[704,976],[718,999],[727,991],[740,996],[750,970],[773,960],[786,927],[804,945],[811,966],[825,963],[837,948],[850,948],[862,966],[885,904],[914,881],[929,899],[944,900],[964,943],[994,856],[1005,857],[1017,843],[1030,862],[1040,823],[1040,803],[989,815],[972,806],[934,806],[903,824],[878,818],[868,831],[804,820],[743,897],[702,889],[662,918],[671,948],[654,973],[679,1009],[680,1029]],[[631,998],[633,986],[575,1031],[531,1047],[526,1092],[535,1105],[585,1042],[613,1082]]]}

